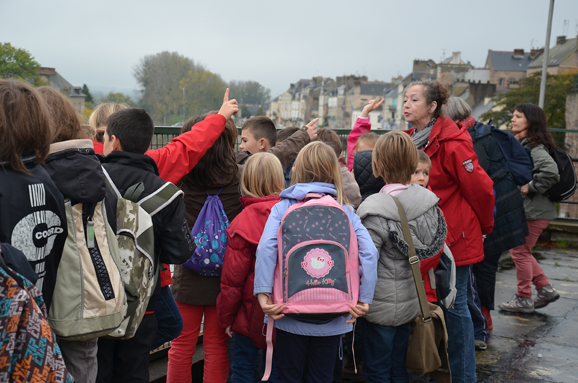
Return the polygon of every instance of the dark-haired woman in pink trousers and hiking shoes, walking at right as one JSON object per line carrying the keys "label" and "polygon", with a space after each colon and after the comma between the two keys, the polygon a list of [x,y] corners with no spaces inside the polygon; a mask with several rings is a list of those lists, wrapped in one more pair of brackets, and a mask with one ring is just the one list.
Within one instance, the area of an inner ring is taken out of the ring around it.
{"label": "dark-haired woman in pink trousers and hiking shoes, walking at right", "polygon": [[[558,165],[550,156],[556,143],[548,131],[546,114],[539,106],[518,104],[512,117],[512,132],[523,146],[532,149],[533,180],[521,187],[529,234],[526,243],[510,251],[516,265],[517,292],[507,303],[499,305],[508,312],[533,312],[560,298],[542,267],[532,256],[532,247],[550,220],[556,218],[556,205],[544,193],[560,181]],[[536,297],[532,300],[532,284]]]}

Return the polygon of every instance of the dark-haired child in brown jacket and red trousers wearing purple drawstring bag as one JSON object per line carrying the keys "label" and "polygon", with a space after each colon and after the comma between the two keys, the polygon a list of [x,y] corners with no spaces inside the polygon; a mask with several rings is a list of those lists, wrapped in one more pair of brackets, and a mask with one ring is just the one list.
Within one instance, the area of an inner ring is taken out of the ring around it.
{"label": "dark-haired child in brown jacket and red trousers wearing purple drawstring bag", "polygon": [[[184,123],[181,133],[190,131],[194,124],[212,114],[214,112],[191,117]],[[178,186],[184,192],[185,218],[189,227],[194,226],[208,195],[218,194],[229,222],[242,211],[243,205],[239,201],[239,181],[243,167],[237,165],[235,160],[237,135],[235,122],[228,119],[225,130],[217,141],[191,172],[179,182]],[[171,343],[166,377],[168,382],[191,381],[192,356],[195,353],[203,315],[205,316],[203,381],[227,381],[228,337],[217,320],[216,304],[221,291],[220,286],[221,277],[208,277],[184,266],[175,266],[171,290],[183,317],[183,331]]]}

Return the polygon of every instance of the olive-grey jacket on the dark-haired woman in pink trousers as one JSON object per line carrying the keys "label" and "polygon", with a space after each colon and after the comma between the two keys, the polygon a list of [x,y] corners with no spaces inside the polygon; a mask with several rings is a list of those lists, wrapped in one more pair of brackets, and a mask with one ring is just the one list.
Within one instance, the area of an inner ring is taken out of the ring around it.
{"label": "olive-grey jacket on the dark-haired woman in pink trousers", "polygon": [[[528,139],[524,137],[520,143],[528,146]],[[531,154],[534,161],[533,180],[528,183],[529,193],[522,197],[526,219],[553,220],[558,216],[556,205],[544,193],[560,181],[558,165],[542,144],[534,146]]]}

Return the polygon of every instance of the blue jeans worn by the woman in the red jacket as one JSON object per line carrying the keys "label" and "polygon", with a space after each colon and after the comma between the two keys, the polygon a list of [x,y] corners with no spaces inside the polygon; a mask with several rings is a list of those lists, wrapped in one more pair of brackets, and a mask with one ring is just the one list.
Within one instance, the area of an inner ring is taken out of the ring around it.
{"label": "blue jeans worn by the woman in the red jacket", "polygon": [[474,383],[476,381],[476,349],[472,316],[468,308],[468,281],[471,265],[455,268],[455,288],[458,290],[454,307],[445,310],[447,327],[447,353],[450,359],[451,381]]}

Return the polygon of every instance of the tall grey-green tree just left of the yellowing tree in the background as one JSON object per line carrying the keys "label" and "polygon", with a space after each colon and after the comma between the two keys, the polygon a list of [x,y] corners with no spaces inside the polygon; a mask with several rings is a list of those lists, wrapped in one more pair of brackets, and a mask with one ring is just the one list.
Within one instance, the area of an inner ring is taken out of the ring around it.
{"label": "tall grey-green tree just left of the yellowing tree in the background", "polygon": [[134,68],[134,76],[140,85],[139,105],[147,109],[155,120],[182,113],[183,90],[181,80],[189,73],[203,72],[190,58],[177,52],[144,56]]}

